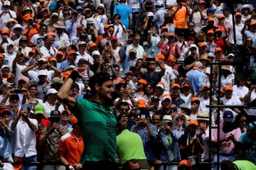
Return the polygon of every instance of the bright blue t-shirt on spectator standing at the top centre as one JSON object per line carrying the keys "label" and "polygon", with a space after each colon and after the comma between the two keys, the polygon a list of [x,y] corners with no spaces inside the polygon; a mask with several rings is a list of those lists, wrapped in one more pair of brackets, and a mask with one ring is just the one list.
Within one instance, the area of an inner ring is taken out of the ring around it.
{"label": "bright blue t-shirt on spectator standing at the top centre", "polygon": [[129,15],[132,15],[132,9],[124,3],[114,7],[114,14],[121,16],[121,22],[125,28],[129,28]]}

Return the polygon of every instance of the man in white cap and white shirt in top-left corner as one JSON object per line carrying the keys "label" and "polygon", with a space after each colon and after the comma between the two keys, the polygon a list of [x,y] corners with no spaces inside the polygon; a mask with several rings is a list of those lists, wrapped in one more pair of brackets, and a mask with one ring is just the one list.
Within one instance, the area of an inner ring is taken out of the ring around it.
{"label": "man in white cap and white shirt in top-left corner", "polygon": [[13,18],[15,20],[17,18],[16,12],[12,11],[10,6],[10,1],[4,1],[4,8],[0,11],[0,28],[5,28],[5,23],[9,18]]}

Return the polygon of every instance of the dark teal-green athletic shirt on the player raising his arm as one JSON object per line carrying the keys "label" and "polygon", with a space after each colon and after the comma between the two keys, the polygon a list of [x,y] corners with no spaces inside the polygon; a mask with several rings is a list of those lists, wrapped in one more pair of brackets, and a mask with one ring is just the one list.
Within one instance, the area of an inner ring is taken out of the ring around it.
{"label": "dark teal-green athletic shirt on the player raising his arm", "polygon": [[77,99],[73,114],[78,118],[85,149],[80,163],[115,162],[117,156],[117,120],[112,108],[101,103]]}

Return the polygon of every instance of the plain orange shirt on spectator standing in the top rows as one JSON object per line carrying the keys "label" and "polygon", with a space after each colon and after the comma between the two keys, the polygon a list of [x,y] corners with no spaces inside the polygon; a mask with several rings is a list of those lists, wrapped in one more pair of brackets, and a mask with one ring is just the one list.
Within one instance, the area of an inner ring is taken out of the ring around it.
{"label": "plain orange shirt on spectator standing in the top rows", "polygon": [[[172,8],[172,13],[174,13],[174,11],[176,11],[176,9],[178,8],[178,6],[174,6],[174,8]],[[187,9],[186,6],[182,6],[174,15],[174,25],[176,26],[176,28],[188,28],[187,26]]]}

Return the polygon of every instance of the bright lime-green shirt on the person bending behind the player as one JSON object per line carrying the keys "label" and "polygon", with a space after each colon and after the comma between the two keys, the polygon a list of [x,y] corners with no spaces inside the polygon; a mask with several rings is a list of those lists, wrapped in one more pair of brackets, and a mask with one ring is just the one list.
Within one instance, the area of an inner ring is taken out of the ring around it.
{"label": "bright lime-green shirt on the person bending behind the player", "polygon": [[146,159],[142,137],[127,129],[123,130],[117,135],[117,155],[121,164],[131,159]]}

